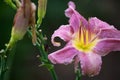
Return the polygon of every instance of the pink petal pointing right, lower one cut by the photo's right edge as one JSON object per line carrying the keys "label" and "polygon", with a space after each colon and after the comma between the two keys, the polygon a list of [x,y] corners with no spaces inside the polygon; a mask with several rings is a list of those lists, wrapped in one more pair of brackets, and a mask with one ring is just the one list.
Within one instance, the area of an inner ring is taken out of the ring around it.
{"label": "pink petal pointing right, lower one cut by the photo's right edge", "polygon": [[93,51],[101,56],[105,56],[111,51],[120,51],[120,39],[102,39],[94,47]]}

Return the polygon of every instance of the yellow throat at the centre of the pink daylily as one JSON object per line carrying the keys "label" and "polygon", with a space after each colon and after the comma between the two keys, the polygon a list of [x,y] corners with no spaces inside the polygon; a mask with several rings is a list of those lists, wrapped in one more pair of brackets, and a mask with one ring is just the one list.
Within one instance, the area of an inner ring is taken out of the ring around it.
{"label": "yellow throat at the centre of the pink daylily", "polygon": [[80,29],[74,35],[73,46],[83,52],[90,52],[96,45],[98,38],[87,27],[80,26]]}

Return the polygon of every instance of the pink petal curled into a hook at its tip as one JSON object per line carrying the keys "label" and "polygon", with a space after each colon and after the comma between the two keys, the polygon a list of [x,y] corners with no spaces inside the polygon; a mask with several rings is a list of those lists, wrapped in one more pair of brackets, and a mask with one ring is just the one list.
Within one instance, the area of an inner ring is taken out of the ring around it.
{"label": "pink petal curled into a hook at its tip", "polygon": [[64,41],[69,41],[72,38],[71,27],[69,25],[62,25],[62,26],[60,26],[59,29],[57,29],[53,33],[53,35],[51,37],[51,41],[52,41],[53,45],[54,46],[60,46],[60,42],[55,42],[54,41],[55,37],[60,37]]}

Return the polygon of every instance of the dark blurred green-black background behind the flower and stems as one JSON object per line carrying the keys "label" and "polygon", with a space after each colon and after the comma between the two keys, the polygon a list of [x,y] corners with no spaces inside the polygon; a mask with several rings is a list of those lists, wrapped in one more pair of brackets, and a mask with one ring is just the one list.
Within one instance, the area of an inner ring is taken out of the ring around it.
{"label": "dark blurred green-black background behind the flower and stems", "polygon": [[[37,5],[37,0],[32,0]],[[50,42],[50,36],[62,24],[68,24],[64,10],[69,0],[48,0],[47,13],[42,23],[42,30],[48,37],[49,53],[58,50]],[[120,30],[120,0],[73,0],[77,10],[85,17],[98,17],[114,25]],[[0,49],[8,43],[13,25],[15,10],[0,0]],[[39,51],[31,43],[28,35],[17,44],[10,80],[52,80],[48,70],[38,67]],[[82,76],[82,80],[120,80],[120,52],[111,52],[102,58],[103,64],[98,76],[89,78]],[[59,80],[75,80],[73,64],[55,65]]]}

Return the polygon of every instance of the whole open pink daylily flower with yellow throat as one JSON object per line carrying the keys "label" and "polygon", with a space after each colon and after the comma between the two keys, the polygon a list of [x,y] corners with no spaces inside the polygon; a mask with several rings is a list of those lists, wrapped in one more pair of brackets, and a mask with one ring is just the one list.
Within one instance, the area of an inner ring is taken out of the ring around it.
{"label": "whole open pink daylily flower with yellow throat", "polygon": [[62,25],[52,35],[54,46],[60,46],[54,41],[59,37],[67,44],[64,48],[48,55],[54,64],[81,64],[83,75],[95,76],[101,69],[101,56],[111,51],[120,51],[120,31],[114,26],[96,17],[88,21],[75,10],[73,2],[68,3],[65,15],[70,18],[68,25]]}

